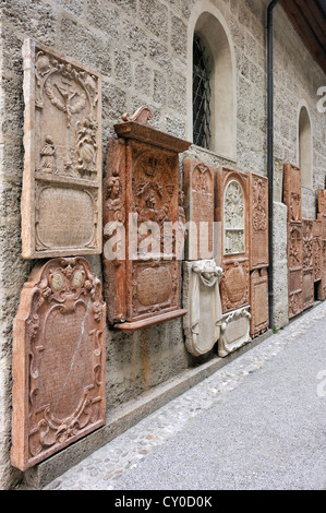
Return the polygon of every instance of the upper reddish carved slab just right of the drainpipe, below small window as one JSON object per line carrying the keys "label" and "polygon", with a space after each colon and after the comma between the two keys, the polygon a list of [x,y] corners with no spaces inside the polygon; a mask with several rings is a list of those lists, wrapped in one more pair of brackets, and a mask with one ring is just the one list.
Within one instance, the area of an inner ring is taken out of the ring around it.
{"label": "upper reddish carved slab just right of the drainpipe, below small window", "polygon": [[283,203],[288,207],[288,222],[301,222],[301,170],[289,163],[285,164]]}

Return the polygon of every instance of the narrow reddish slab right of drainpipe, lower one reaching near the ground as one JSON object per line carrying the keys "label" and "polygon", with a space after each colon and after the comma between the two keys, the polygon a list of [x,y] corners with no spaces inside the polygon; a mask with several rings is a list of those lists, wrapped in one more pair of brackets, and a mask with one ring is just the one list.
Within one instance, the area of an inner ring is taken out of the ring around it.
{"label": "narrow reddish slab right of drainpipe, lower one reaching near the ground", "polygon": [[303,310],[302,224],[288,223],[289,319]]}

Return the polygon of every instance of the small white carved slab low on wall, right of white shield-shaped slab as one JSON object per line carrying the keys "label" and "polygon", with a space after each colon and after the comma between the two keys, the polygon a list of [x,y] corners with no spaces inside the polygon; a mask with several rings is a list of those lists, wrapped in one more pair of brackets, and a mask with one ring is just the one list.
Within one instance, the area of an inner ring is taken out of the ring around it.
{"label": "small white carved slab low on wall, right of white shield-shaped slab", "polygon": [[222,315],[218,356],[224,358],[251,342],[250,319],[250,307]]}

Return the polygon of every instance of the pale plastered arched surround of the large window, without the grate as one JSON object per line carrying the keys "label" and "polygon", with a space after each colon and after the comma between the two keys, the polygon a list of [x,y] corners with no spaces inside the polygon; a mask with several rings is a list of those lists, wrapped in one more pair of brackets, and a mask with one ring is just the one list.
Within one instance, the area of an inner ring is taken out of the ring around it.
{"label": "pale plastered arched surround of the large window, without the grate", "polygon": [[188,57],[191,65],[188,73],[190,116],[188,138],[193,138],[196,105],[193,76],[194,41],[200,38],[205,48],[209,67],[209,150],[236,159],[237,154],[237,73],[234,49],[227,24],[217,8],[208,0],[200,0],[192,10],[189,24]]}

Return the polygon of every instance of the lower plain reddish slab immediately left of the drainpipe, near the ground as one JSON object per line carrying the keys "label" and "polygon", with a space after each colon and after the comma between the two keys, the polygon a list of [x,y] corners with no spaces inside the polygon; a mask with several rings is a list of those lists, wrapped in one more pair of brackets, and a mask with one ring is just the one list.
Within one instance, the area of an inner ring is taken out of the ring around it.
{"label": "lower plain reddish slab immediately left of the drainpipe, near the ground", "polygon": [[268,272],[255,270],[251,274],[251,323],[250,334],[254,338],[268,330]]}

